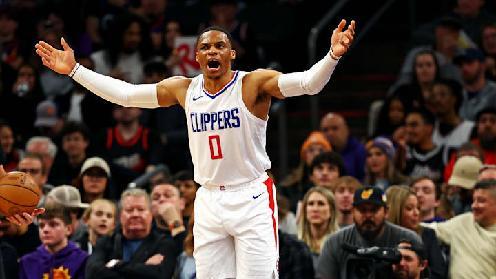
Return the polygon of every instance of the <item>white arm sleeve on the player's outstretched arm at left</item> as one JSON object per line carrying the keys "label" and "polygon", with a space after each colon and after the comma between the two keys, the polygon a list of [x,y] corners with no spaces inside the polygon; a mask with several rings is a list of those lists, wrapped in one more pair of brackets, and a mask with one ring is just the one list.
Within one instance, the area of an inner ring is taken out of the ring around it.
{"label": "white arm sleeve on the player's outstretched arm at left", "polygon": [[74,69],[76,69],[74,81],[107,101],[123,107],[159,107],[156,84],[130,84],[110,76],[97,74],[81,65],[76,65]]}

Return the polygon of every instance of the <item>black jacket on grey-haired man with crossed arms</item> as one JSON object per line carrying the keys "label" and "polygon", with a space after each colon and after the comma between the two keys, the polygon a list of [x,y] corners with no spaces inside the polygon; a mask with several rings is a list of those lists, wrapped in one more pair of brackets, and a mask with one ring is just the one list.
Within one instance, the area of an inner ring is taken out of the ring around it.
{"label": "black jacket on grey-haired man with crossed arms", "polygon": [[[146,265],[145,262],[154,254],[162,254],[164,260],[160,265]],[[122,258],[122,232],[101,236],[87,260],[86,278],[171,278],[176,268],[176,247],[172,240],[152,230],[132,254],[131,260]],[[121,261],[112,268],[105,267],[112,259]]]}

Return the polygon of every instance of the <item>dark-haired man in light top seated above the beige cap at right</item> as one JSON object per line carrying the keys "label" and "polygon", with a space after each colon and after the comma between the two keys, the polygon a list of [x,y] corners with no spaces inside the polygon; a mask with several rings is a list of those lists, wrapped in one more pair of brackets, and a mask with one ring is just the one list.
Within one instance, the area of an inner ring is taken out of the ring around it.
{"label": "dark-haired man in light top seated above the beige cap at right", "polygon": [[444,146],[443,163],[446,165],[451,152],[470,140],[475,123],[458,116],[462,87],[456,81],[437,81],[432,96],[436,116],[432,141],[437,146]]}

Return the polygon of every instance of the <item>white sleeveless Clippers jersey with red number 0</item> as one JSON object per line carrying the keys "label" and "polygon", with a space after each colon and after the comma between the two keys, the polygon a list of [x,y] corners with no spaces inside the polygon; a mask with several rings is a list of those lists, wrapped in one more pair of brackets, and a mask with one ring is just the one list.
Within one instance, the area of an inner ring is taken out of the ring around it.
{"label": "white sleeveless Clippers jersey with red number 0", "polygon": [[186,93],[186,119],[194,180],[201,185],[238,185],[255,180],[271,167],[265,152],[267,120],[257,118],[242,100],[236,71],[218,92],[205,88],[203,74]]}

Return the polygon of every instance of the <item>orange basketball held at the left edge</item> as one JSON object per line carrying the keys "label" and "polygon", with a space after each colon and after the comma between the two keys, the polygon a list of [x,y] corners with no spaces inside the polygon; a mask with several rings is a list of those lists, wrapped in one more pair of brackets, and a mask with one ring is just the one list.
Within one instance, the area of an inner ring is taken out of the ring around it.
{"label": "orange basketball held at the left edge", "polygon": [[5,216],[32,213],[40,196],[40,189],[29,174],[9,172],[0,178],[0,211]]}

